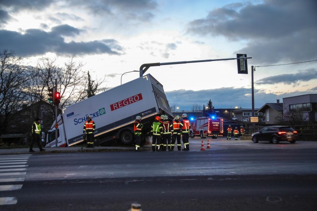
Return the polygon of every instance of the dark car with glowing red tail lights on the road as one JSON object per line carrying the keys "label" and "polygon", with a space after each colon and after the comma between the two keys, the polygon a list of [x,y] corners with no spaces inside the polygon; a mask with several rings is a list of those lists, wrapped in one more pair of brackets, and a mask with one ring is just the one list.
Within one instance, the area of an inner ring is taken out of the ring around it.
{"label": "dark car with glowing red tail lights on the road", "polygon": [[269,141],[278,144],[280,141],[289,141],[294,144],[297,139],[297,131],[290,126],[263,127],[260,131],[252,134],[253,143]]}

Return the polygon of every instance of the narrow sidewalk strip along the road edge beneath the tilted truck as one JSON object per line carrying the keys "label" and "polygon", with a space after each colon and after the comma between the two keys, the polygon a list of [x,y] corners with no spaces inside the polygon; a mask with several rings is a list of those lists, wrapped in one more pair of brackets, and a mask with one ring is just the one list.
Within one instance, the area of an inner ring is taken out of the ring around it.
{"label": "narrow sidewalk strip along the road edge beneath the tilted truck", "polygon": [[[40,152],[39,148],[34,147],[35,152],[29,152],[29,148],[0,148],[0,155],[10,154],[46,154],[46,153],[63,153],[63,152],[102,152],[102,151],[133,151],[135,147],[63,147],[63,148],[45,148],[45,151]],[[141,150],[152,150],[150,145],[144,145]]]}

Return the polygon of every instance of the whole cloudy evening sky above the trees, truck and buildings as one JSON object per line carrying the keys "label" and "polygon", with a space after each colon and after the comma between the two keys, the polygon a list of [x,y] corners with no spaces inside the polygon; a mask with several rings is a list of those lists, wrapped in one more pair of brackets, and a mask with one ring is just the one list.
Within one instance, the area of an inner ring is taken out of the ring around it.
{"label": "whole cloudy evening sky above the trees, truck and buildings", "polygon": [[[236,60],[150,67],[171,106],[251,108],[317,93],[316,0],[0,0],[0,50],[29,64],[71,56],[112,88],[144,63]],[[312,62],[308,62],[312,61]],[[293,63],[293,64],[291,64]],[[284,65],[280,65],[284,64]],[[124,75],[122,75],[125,73]]]}

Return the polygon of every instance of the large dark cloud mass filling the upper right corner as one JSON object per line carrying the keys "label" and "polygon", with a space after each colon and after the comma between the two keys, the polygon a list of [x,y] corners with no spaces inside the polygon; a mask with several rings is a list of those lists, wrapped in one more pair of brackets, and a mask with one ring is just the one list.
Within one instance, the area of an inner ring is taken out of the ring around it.
{"label": "large dark cloud mass filling the upper right corner", "polygon": [[[252,62],[294,62],[317,58],[317,1],[264,0],[261,4],[229,4],[191,21],[187,31],[249,41],[237,52]],[[237,53],[235,52],[235,53]]]}

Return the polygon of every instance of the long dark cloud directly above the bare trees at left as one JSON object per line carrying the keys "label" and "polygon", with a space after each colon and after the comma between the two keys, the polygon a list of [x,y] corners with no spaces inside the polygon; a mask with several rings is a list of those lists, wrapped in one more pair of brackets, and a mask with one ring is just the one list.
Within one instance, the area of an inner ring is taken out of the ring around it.
{"label": "long dark cloud directly above the bare trees at left", "polygon": [[[14,50],[18,56],[35,56],[47,52],[57,55],[121,54],[123,48],[115,40],[65,42],[62,36],[78,35],[80,30],[69,25],[52,28],[51,32],[28,29],[24,34],[0,30],[0,46]],[[113,47],[112,47],[113,46]]]}

